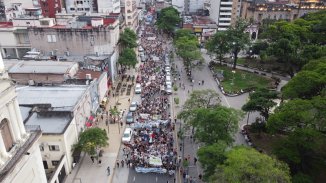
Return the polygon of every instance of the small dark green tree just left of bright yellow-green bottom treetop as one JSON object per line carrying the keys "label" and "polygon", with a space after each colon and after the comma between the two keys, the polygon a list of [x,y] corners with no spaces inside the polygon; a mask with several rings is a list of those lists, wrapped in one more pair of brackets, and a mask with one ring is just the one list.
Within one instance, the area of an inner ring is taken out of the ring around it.
{"label": "small dark green tree just left of bright yellow-green bottom treetop", "polygon": [[207,180],[214,174],[217,165],[224,162],[227,148],[228,146],[225,142],[219,141],[215,144],[203,146],[198,149],[197,155],[204,169],[204,180]]}

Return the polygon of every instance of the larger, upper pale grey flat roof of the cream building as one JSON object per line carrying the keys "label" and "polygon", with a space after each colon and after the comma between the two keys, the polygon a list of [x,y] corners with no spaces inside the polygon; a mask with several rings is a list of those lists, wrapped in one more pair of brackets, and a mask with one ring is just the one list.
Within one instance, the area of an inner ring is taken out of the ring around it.
{"label": "larger, upper pale grey flat roof of the cream building", "polygon": [[51,104],[52,111],[73,111],[87,87],[87,85],[23,86],[17,87],[16,91],[21,105]]}

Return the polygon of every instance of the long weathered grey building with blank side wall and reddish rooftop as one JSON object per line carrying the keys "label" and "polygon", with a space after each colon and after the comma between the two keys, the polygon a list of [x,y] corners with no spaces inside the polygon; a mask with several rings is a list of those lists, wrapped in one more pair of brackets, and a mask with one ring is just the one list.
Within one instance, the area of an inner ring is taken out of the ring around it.
{"label": "long weathered grey building with blank side wall and reddish rooftop", "polygon": [[68,25],[29,27],[31,47],[50,56],[113,54],[119,40],[119,21],[102,17],[85,18],[88,20]]}

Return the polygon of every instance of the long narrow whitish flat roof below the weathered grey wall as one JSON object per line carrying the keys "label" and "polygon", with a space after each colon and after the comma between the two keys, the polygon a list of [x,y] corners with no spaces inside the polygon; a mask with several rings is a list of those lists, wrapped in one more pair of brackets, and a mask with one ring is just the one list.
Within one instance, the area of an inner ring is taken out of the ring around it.
{"label": "long narrow whitish flat roof below the weathered grey wall", "polygon": [[[8,68],[9,73],[66,74],[77,63],[59,61],[20,61]],[[6,64],[7,65],[7,64]]]}

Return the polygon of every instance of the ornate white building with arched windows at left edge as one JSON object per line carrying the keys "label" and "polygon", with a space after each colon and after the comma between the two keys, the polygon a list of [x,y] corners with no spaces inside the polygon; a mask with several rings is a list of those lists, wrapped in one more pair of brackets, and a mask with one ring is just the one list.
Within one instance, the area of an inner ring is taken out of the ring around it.
{"label": "ornate white building with arched windows at left edge", "polygon": [[38,140],[39,126],[24,127],[15,87],[0,55],[0,182],[47,183]]}

